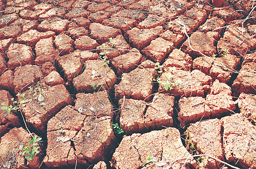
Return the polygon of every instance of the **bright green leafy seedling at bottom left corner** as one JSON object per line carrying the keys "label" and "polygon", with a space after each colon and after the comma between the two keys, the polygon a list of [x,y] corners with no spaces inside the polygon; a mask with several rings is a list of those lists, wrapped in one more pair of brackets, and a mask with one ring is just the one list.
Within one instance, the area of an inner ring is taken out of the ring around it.
{"label": "bright green leafy seedling at bottom left corner", "polygon": [[25,158],[27,158],[29,161],[32,160],[32,158],[37,154],[39,153],[39,146],[38,146],[38,142],[42,140],[41,137],[37,137],[37,135],[34,135],[32,140],[29,139],[29,143],[31,145],[28,145],[28,146],[25,146],[22,148],[23,152],[22,152],[22,155],[26,154],[25,155]]}

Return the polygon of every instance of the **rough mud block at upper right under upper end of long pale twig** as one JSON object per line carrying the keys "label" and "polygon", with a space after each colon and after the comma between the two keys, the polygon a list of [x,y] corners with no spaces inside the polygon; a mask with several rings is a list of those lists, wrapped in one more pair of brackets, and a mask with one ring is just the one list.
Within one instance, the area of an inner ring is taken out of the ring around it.
{"label": "rough mud block at upper right under upper end of long pale twig", "polygon": [[198,28],[199,23],[197,20],[191,19],[190,17],[180,15],[177,19],[169,21],[166,28],[172,30],[172,32],[176,34],[185,35],[184,25],[186,28],[186,32],[192,33],[195,29]]}

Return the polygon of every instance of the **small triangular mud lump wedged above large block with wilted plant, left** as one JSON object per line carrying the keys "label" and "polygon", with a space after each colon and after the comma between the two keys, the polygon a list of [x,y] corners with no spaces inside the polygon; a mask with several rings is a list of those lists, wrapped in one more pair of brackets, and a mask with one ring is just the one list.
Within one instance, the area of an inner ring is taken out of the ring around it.
{"label": "small triangular mud lump wedged above large block with wilted plant, left", "polygon": [[58,84],[65,84],[65,81],[62,79],[61,75],[55,70],[46,75],[43,79],[45,84],[48,86],[56,86]]}

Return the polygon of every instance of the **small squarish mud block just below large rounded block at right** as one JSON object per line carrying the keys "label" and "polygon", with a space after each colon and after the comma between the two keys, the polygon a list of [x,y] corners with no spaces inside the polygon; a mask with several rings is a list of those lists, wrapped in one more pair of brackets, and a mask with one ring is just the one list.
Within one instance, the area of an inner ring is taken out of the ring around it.
{"label": "small squarish mud block just below large rounded block at right", "polygon": [[204,74],[209,74],[212,64],[214,64],[215,57],[197,57],[193,60],[193,69],[198,69]]}

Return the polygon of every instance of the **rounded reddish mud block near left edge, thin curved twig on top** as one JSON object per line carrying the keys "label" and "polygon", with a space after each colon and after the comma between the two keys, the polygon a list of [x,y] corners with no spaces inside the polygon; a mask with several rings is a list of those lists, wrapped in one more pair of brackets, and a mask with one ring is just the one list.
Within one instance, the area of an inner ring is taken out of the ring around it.
{"label": "rounded reddish mud block near left edge, thin curved twig on top", "polygon": [[6,52],[8,69],[14,70],[19,66],[34,63],[34,53],[31,47],[19,43],[12,43]]}

